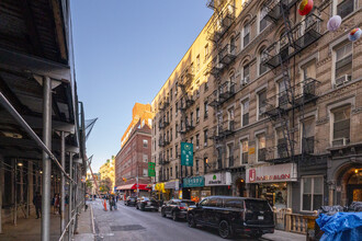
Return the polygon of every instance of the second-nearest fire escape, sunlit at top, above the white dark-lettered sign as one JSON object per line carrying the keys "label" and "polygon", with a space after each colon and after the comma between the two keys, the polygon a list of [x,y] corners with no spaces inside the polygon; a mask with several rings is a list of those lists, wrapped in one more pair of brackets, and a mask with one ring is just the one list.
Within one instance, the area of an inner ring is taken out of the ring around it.
{"label": "second-nearest fire escape, sunlit at top, above the white dark-lettered sign", "polygon": [[[226,148],[223,145],[225,139],[235,133],[234,119],[223,119],[223,104],[236,94],[236,84],[233,79],[222,79],[222,74],[237,57],[235,39],[230,38],[227,44],[223,44],[225,33],[235,22],[234,1],[210,0],[207,7],[214,10],[214,20],[207,33],[207,41],[213,45],[215,57],[208,64],[208,72],[214,77],[217,88],[207,96],[208,105],[215,110],[217,124],[211,129],[208,138],[213,139],[217,152],[217,168],[223,169],[223,154]],[[233,114],[234,115],[234,114]],[[216,167],[215,167],[216,168]]]}

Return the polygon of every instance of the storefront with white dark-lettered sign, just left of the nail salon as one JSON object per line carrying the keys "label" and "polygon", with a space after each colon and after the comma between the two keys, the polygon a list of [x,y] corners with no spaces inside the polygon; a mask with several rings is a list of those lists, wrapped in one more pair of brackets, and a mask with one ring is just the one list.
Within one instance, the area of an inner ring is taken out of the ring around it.
{"label": "storefront with white dark-lettered sign, just left of the nail salon", "polygon": [[205,175],[205,186],[211,187],[211,195],[231,196],[231,173],[217,172]]}

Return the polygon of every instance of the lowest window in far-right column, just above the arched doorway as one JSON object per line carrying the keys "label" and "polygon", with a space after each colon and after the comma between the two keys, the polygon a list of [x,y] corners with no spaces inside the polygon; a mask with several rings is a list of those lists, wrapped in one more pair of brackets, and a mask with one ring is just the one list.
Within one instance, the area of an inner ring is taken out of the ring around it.
{"label": "lowest window in far-right column, just above the arched doorway", "polygon": [[351,106],[343,106],[332,111],[333,113],[333,145],[349,142],[351,128]]}

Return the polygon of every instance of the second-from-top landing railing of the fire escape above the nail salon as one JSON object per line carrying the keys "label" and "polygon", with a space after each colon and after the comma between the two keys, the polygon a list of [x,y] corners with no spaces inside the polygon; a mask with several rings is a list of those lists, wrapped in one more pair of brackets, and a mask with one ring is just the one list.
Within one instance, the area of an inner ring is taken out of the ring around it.
{"label": "second-from-top landing railing of the fire escape above the nail salon", "polygon": [[[307,15],[305,20],[296,24],[289,33],[283,34],[279,41],[265,48],[262,64],[272,69],[276,68],[281,65],[281,58],[284,62],[315,43],[321,36],[320,23],[321,19],[317,15]],[[291,45],[287,45],[290,36],[294,41]]]}

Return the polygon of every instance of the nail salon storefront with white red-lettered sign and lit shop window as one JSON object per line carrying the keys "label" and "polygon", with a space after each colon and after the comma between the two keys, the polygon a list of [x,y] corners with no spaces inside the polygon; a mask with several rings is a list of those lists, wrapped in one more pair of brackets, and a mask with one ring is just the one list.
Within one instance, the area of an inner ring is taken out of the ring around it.
{"label": "nail salon storefront with white red-lettered sign and lit shop window", "polygon": [[261,165],[247,169],[250,196],[267,199],[278,209],[291,207],[292,182],[297,181],[295,163]]}

